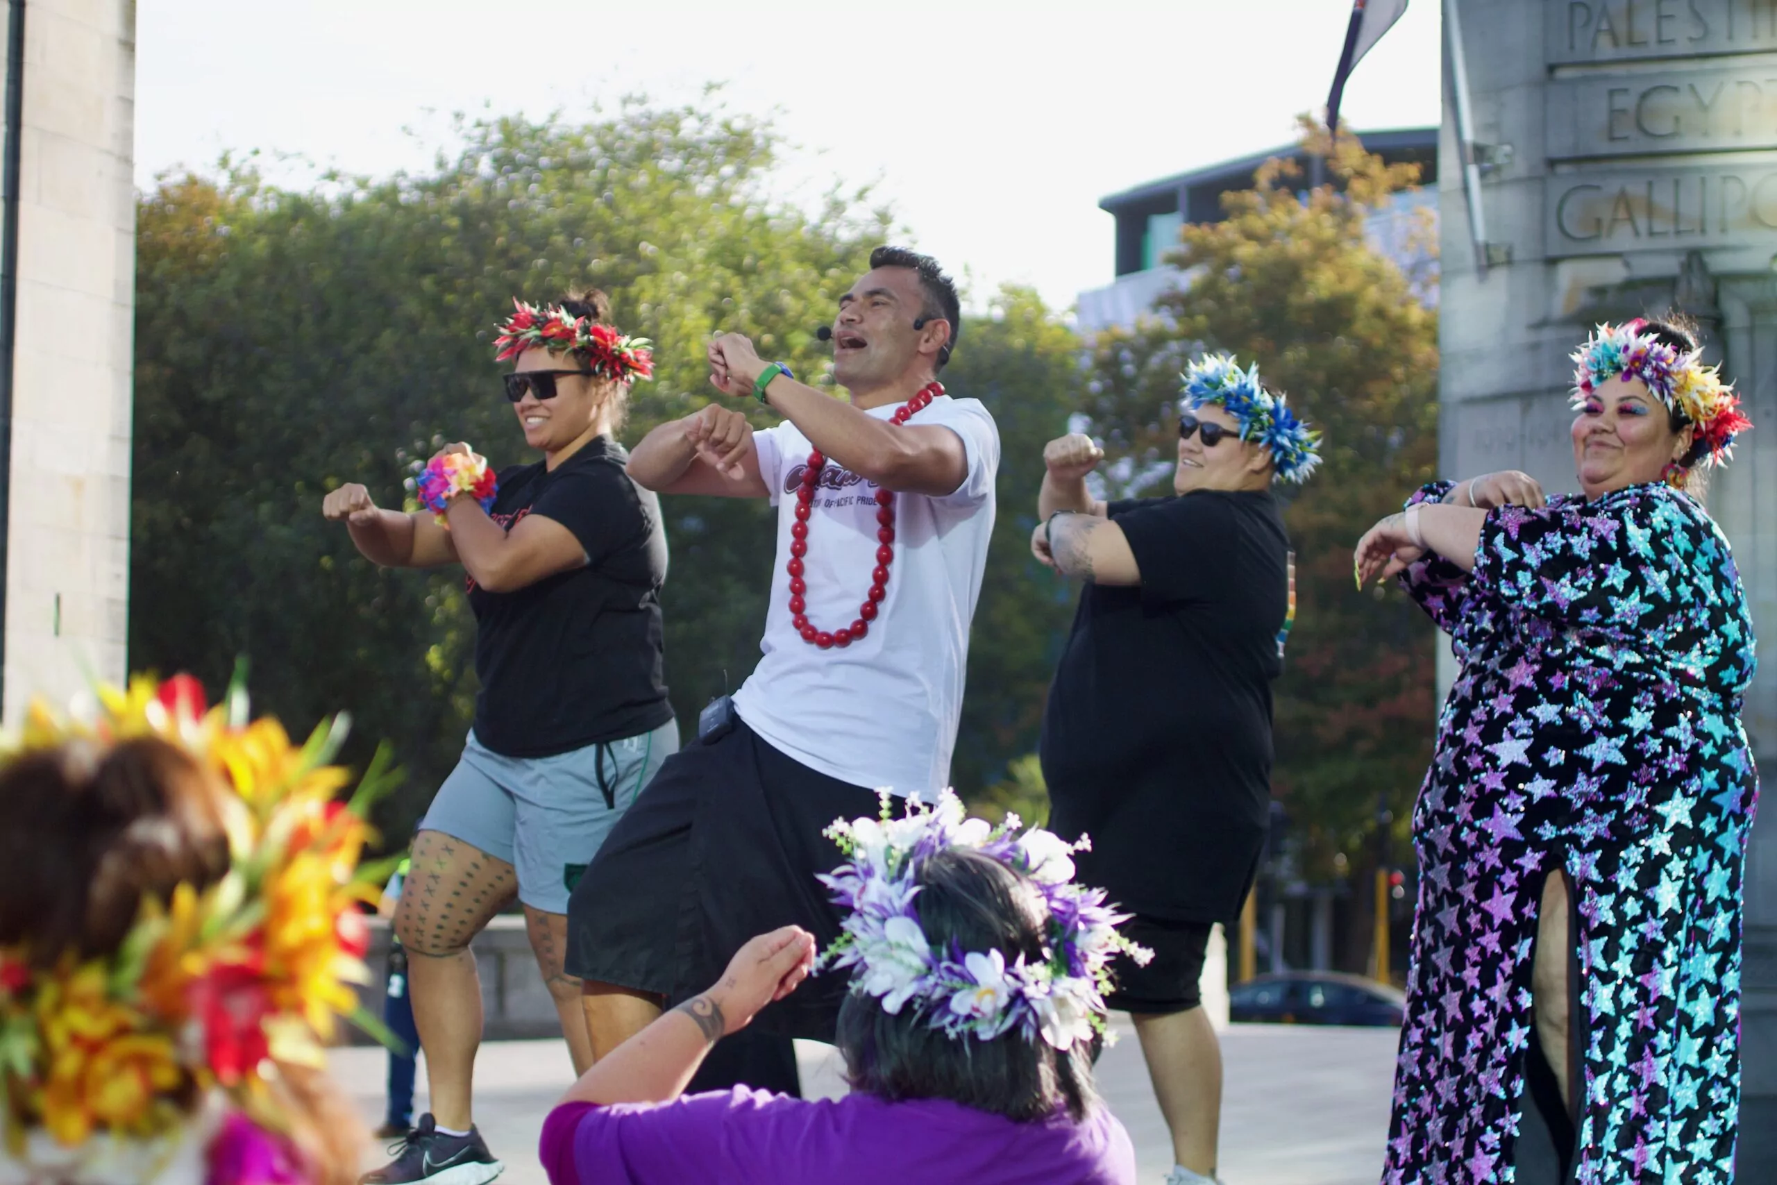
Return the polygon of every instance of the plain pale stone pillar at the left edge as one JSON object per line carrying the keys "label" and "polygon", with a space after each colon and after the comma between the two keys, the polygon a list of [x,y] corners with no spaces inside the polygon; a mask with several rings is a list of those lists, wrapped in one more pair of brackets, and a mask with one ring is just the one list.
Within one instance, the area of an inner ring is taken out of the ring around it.
{"label": "plain pale stone pillar at the left edge", "polygon": [[5,723],[124,677],[135,4],[28,0],[23,78]]}

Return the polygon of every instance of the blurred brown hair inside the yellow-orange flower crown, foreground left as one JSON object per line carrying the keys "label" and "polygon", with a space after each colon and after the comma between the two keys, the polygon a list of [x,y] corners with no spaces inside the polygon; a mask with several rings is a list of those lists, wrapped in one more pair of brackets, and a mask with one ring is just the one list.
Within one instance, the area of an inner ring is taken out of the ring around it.
{"label": "blurred brown hair inside the yellow-orange flower crown, foreground left", "polygon": [[185,750],[137,737],[69,741],[0,771],[0,943],[34,963],[110,954],[144,897],[227,872],[226,792]]}

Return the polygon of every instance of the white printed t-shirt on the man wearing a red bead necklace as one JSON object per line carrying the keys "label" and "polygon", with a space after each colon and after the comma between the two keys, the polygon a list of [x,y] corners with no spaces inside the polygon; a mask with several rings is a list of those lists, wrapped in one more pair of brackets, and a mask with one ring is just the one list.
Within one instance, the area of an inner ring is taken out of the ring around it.
{"label": "white printed t-shirt on the man wearing a red bead necklace", "polygon": [[[869,409],[876,419],[899,403]],[[945,497],[896,494],[888,595],[862,641],[826,650],[791,625],[791,526],[809,437],[784,421],[753,433],[759,474],[778,510],[764,657],[734,693],[741,720],[780,753],[828,776],[896,794],[949,785],[968,666],[968,622],[993,535],[999,430],[981,400],[940,396],[913,425],[956,432],[968,476]],[[833,632],[858,620],[876,567],[876,485],[826,462],[809,517],[803,581],[809,622]]]}

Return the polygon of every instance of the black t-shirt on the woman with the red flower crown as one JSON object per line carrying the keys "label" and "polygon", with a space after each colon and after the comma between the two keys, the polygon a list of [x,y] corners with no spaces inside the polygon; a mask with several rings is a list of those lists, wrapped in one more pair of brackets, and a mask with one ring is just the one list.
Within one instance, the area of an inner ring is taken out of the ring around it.
{"label": "black t-shirt on the woman with the red flower crown", "polygon": [[508,531],[526,515],[560,522],[586,565],[515,592],[469,581],[474,609],[474,736],[506,757],[551,757],[640,736],[672,720],[663,673],[659,501],[624,473],[629,455],[594,437],[554,471],[499,471],[489,512]]}

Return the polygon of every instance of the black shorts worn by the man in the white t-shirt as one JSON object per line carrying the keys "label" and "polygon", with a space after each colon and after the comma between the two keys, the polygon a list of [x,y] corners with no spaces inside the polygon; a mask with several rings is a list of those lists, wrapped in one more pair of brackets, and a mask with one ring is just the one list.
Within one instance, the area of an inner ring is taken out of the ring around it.
{"label": "black shorts worn by the man in the white t-shirt", "polygon": [[[878,799],[791,760],[736,720],[679,750],[611,828],[567,906],[567,972],[665,997],[709,988],[755,934],[801,926],[821,949],[844,915],[816,872],[842,856],[821,835],[874,817]],[[849,977],[810,975],[755,1027],[832,1041]]]}

